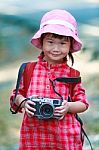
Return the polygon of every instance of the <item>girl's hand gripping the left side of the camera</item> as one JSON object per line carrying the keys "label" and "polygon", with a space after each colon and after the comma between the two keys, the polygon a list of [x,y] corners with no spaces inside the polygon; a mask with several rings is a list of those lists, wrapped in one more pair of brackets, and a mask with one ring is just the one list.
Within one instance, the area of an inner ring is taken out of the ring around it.
{"label": "girl's hand gripping the left side of the camera", "polygon": [[24,109],[25,109],[25,111],[26,111],[26,113],[27,113],[27,115],[29,117],[33,117],[34,116],[34,112],[36,111],[34,106],[35,106],[35,103],[33,101],[31,101],[31,100],[27,100],[24,103]]}

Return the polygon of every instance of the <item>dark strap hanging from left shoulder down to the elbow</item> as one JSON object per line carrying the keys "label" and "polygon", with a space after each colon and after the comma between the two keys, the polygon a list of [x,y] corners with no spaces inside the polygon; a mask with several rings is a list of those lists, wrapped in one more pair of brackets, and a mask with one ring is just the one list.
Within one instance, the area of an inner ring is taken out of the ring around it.
{"label": "dark strap hanging from left shoulder down to the elbow", "polygon": [[[13,104],[14,104],[15,101],[16,101],[16,96],[17,96],[17,94],[18,94],[18,90],[19,90],[19,86],[20,86],[20,81],[21,81],[22,73],[23,73],[23,71],[24,71],[24,68],[25,68],[26,64],[27,64],[27,63],[23,63],[23,64],[20,66],[20,68],[19,68],[18,78],[17,78],[17,83],[16,83],[15,96],[14,96],[14,98],[13,98],[13,101],[12,101],[11,106],[13,106]],[[19,109],[19,108],[18,108],[18,109]],[[10,107],[10,111],[12,112],[12,114],[16,114],[16,110],[14,111],[14,110],[12,109],[12,107]]]}

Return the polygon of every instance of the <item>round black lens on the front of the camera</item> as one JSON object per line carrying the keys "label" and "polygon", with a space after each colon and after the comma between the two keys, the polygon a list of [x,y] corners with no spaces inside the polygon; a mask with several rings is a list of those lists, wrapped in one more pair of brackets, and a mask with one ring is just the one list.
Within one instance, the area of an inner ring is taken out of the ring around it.
{"label": "round black lens on the front of the camera", "polygon": [[53,106],[48,103],[43,104],[40,107],[40,114],[45,119],[51,118],[53,116],[53,111],[54,111]]}

